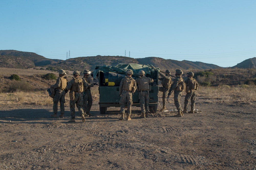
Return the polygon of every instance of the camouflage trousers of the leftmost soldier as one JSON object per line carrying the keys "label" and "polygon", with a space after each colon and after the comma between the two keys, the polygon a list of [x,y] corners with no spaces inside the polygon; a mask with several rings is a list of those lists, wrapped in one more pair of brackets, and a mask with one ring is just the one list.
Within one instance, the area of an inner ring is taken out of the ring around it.
{"label": "camouflage trousers of the leftmost soldier", "polygon": [[53,99],[53,113],[57,113],[58,112],[58,103],[60,101],[60,113],[64,113],[65,109],[64,109],[64,103],[65,103],[65,91],[64,90],[56,90],[55,92],[55,96]]}

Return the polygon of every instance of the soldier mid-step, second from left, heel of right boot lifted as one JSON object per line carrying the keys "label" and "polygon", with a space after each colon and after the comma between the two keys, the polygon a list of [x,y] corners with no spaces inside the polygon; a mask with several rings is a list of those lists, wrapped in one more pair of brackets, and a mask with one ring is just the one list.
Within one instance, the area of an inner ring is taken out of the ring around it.
{"label": "soldier mid-step, second from left, heel of right boot lifted", "polygon": [[[77,109],[79,111],[79,114],[82,118],[82,121],[85,122],[84,112],[83,112],[83,90],[84,88],[87,88],[87,83],[79,78],[80,73],[79,71],[73,72],[73,79],[69,81],[66,92],[70,89],[69,95],[70,95],[70,114],[71,114],[71,120],[68,122],[76,122],[75,121],[75,106],[77,106]],[[74,93],[74,99],[72,100],[71,96],[72,93]]]}

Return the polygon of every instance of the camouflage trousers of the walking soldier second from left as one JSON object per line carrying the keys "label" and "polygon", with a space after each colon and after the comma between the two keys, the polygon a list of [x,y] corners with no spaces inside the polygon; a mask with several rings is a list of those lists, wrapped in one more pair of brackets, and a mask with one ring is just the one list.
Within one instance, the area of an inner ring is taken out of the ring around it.
{"label": "camouflage trousers of the walking soldier second from left", "polygon": [[83,112],[83,94],[82,93],[75,93],[75,99],[70,100],[69,107],[70,107],[70,114],[71,119],[75,119],[75,107],[77,105],[78,111],[80,116],[84,114]]}

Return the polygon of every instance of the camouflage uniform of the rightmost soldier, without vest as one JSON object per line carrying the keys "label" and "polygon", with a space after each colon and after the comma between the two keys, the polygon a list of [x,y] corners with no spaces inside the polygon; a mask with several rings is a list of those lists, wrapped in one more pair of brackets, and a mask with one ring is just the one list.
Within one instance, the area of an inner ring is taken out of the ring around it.
{"label": "camouflage uniform of the rightmost soldier, without vest", "polygon": [[[190,80],[196,81],[193,77],[189,78],[185,81],[186,85],[190,84]],[[197,86],[198,83],[196,82]],[[189,88],[190,92],[186,94],[185,96],[185,102],[184,102],[184,110],[187,110],[189,100],[191,100],[191,110],[195,110],[195,100],[196,100],[196,89]]]}

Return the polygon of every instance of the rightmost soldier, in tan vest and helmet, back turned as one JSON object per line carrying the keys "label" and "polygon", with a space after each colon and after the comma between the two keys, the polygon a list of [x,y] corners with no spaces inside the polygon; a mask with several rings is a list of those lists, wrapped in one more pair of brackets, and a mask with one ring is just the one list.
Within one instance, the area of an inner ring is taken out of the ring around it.
{"label": "rightmost soldier, in tan vest and helmet, back turned", "polygon": [[[189,92],[185,96],[183,113],[194,113],[196,90],[198,88],[198,83],[197,83],[196,79],[193,78],[193,76],[194,76],[193,72],[188,72],[187,75],[188,75],[188,79],[185,80],[186,92],[187,92],[187,88],[189,88]],[[189,100],[191,100],[191,105],[190,105],[191,110],[189,112],[187,112]]]}

